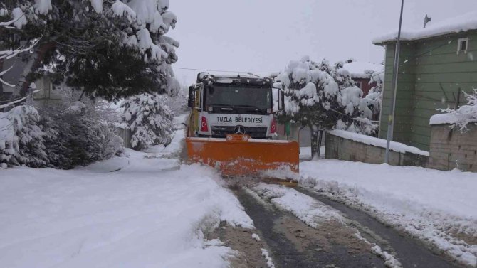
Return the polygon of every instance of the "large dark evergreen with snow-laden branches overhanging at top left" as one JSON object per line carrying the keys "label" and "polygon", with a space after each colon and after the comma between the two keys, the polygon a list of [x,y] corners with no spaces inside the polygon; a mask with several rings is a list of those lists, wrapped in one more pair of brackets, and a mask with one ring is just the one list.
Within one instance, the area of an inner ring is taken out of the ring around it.
{"label": "large dark evergreen with snow-laden branches overhanging at top left", "polygon": [[[7,1],[0,16],[6,34],[0,42],[8,47],[38,42],[25,55],[17,91],[25,95],[26,85],[46,67],[56,85],[92,98],[176,94],[179,83],[171,65],[179,43],[165,34],[177,17],[168,9],[167,0]],[[12,41],[12,34],[19,38]]]}

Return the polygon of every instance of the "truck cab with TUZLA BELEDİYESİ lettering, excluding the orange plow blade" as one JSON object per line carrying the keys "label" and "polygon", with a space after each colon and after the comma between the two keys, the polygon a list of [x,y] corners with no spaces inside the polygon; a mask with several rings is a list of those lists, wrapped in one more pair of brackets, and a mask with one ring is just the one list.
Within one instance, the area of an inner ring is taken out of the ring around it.
{"label": "truck cab with TUZLA BELED\u0130YES\u0130 lettering, excluding the orange plow blade", "polygon": [[189,87],[189,135],[271,139],[276,134],[272,85],[267,77],[199,73],[197,83]]}

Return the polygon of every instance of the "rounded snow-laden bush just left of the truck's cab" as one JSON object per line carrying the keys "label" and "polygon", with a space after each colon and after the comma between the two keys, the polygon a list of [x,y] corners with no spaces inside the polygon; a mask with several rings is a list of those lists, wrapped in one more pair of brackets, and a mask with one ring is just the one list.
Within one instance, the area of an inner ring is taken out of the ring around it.
{"label": "rounded snow-laden bush just left of the truck's cab", "polygon": [[166,97],[155,94],[141,94],[122,102],[122,120],[132,132],[131,145],[142,150],[149,146],[167,145],[174,133],[174,114],[167,107]]}

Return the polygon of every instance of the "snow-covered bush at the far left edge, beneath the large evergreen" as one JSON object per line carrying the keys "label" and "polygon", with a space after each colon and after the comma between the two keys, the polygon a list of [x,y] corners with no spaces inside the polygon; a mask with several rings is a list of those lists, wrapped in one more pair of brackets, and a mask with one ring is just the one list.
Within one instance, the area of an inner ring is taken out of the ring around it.
{"label": "snow-covered bush at the far left edge, beneath the large evergreen", "polygon": [[48,164],[38,111],[18,106],[0,113],[0,163],[43,167]]}

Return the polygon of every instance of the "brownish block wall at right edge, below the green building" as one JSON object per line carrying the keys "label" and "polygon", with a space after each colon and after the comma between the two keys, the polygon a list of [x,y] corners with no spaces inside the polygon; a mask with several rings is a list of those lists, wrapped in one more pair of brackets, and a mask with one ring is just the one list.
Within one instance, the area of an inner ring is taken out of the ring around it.
{"label": "brownish block wall at right edge, below the green building", "polygon": [[477,126],[469,124],[466,133],[449,124],[431,126],[429,154],[429,168],[477,172]]}

